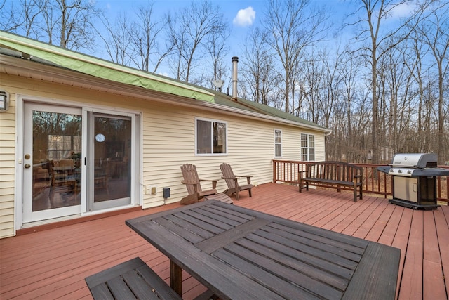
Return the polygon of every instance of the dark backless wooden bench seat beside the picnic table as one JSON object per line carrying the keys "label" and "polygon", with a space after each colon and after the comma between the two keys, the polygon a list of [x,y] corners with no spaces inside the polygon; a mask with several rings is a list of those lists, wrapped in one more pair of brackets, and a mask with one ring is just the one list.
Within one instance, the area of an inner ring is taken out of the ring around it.
{"label": "dark backless wooden bench seat beside the picnic table", "polygon": [[86,277],[93,299],[182,299],[139,257]]}

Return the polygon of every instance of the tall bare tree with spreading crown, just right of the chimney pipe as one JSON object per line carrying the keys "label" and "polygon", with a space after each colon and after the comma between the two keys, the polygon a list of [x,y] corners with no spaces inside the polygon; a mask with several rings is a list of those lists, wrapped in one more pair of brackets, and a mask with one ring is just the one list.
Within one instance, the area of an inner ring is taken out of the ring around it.
{"label": "tall bare tree with spreading crown, just right of the chimney pipe", "polygon": [[271,33],[269,44],[283,68],[285,111],[290,112],[301,56],[308,46],[322,39],[326,15],[311,8],[309,0],[269,0],[265,18],[264,27]]}

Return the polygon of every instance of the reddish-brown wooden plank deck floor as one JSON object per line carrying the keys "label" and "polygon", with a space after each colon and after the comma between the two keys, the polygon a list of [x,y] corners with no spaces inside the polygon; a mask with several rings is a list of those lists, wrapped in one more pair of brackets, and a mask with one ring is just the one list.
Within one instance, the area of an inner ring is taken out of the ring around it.
{"label": "reddish-brown wooden plank deck floor", "polygon": [[[449,299],[449,207],[414,211],[364,195],[264,184],[236,205],[401,249],[398,299]],[[140,256],[168,282],[166,256],[125,225],[145,211],[0,240],[0,299],[91,299],[84,278]],[[183,298],[205,290],[183,273]]]}

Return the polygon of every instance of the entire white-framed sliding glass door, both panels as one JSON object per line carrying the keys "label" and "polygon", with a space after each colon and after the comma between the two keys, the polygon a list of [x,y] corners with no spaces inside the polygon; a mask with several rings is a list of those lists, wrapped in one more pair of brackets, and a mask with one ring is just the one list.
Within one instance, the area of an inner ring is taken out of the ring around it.
{"label": "entire white-framed sliding glass door, both panels", "polygon": [[24,107],[23,223],[138,202],[136,115]]}

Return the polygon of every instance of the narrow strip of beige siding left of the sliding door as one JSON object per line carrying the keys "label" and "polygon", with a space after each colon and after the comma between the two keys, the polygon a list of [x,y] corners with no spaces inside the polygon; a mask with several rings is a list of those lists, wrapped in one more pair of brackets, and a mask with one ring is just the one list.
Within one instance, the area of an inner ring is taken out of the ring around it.
{"label": "narrow strip of beige siding left of the sliding door", "polygon": [[[1,89],[5,89],[3,77]],[[8,92],[9,110],[0,112],[0,237],[15,235],[15,94]]]}

